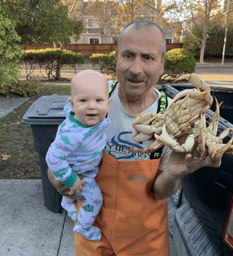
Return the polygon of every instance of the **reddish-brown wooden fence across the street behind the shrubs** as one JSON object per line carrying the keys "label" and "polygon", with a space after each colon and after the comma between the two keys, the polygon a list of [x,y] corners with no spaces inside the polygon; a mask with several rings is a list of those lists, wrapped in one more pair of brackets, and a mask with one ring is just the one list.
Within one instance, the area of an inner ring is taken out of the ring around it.
{"label": "reddish-brown wooden fence across the street behind the shrubs", "polygon": [[[182,48],[182,43],[166,44],[166,50]],[[42,48],[53,48],[53,44],[19,44],[22,50],[39,50]],[[82,53],[85,58],[92,56],[92,53],[109,54],[116,50],[116,44],[65,44],[64,49],[75,53]]]}

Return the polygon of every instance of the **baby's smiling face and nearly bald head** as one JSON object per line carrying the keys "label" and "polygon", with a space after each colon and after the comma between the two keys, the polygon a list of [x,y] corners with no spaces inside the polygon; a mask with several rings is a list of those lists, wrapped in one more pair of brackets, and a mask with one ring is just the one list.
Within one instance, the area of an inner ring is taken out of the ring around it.
{"label": "baby's smiling face and nearly bald head", "polygon": [[77,81],[70,102],[74,118],[83,126],[95,126],[106,116],[110,101],[107,81],[99,75],[91,75],[83,81]]}

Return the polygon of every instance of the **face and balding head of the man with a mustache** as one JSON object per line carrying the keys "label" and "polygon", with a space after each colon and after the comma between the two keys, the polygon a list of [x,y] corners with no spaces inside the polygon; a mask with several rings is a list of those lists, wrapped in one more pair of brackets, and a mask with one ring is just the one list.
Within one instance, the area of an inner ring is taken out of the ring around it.
{"label": "face and balding head of the man with a mustache", "polygon": [[124,93],[141,96],[157,84],[165,62],[161,46],[162,35],[155,26],[125,30],[116,53],[116,77]]}

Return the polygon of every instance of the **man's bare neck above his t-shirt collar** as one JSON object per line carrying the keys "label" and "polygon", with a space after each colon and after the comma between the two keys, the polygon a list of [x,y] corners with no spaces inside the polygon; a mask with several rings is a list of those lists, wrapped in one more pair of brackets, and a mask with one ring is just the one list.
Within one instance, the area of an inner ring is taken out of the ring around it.
{"label": "man's bare neck above his t-shirt collar", "polygon": [[142,111],[153,105],[158,98],[158,94],[156,93],[156,90],[153,90],[153,88],[144,93],[144,95],[138,97],[129,96],[121,89],[122,88],[119,85],[118,96],[123,108],[125,108],[129,114],[140,114]]}

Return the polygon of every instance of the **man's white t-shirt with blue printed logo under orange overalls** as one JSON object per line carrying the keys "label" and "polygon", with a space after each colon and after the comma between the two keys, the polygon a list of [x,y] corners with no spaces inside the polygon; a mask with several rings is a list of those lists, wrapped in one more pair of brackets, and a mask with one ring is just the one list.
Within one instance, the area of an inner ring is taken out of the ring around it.
{"label": "man's white t-shirt with blue printed logo under orange overalls", "polygon": [[[108,85],[110,87],[112,81],[108,81]],[[116,88],[114,88],[111,93],[112,102],[110,105],[110,111],[107,114],[107,117],[110,118],[111,124],[107,127],[107,145],[104,150],[110,156],[116,158],[116,160],[147,160],[150,159],[150,154],[141,154],[129,151],[132,145],[139,145],[141,148],[148,148],[153,141],[135,142],[132,137],[132,122],[135,120],[137,115],[129,114],[120,102],[120,98],[118,96],[118,85],[116,84]],[[156,90],[155,88],[153,88]],[[142,113],[152,112],[157,113],[157,107],[159,99],[161,98],[161,93],[159,90],[156,90],[159,97],[156,99],[156,102],[153,103],[149,108],[144,110]],[[168,103],[171,99],[168,99]],[[164,147],[162,152],[161,163],[159,169],[164,169],[164,163],[168,160],[168,156],[171,150],[167,147]]]}

